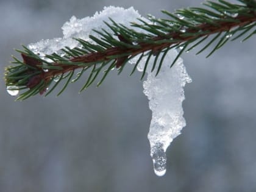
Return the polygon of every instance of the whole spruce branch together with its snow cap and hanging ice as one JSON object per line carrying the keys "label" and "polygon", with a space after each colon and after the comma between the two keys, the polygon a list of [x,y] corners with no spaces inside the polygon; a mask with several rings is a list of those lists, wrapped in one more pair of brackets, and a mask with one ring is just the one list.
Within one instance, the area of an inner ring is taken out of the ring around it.
{"label": "whole spruce branch together with its snow cap and hanging ice", "polygon": [[[182,101],[183,87],[191,82],[180,55],[207,42],[198,52],[213,43],[207,57],[227,41],[251,38],[256,26],[256,2],[240,0],[239,4],[219,0],[207,1],[210,9],[188,8],[169,13],[169,19],[149,15],[143,18],[132,7],[105,7],[92,17],[66,22],[63,37],[41,40],[23,46],[22,61],[13,56],[15,65],[6,68],[7,92],[24,100],[36,94],[47,96],[65,80],[59,94],[89,70],[80,91],[103,74],[97,86],[117,68],[121,73],[127,63],[141,71],[144,94],[152,110],[148,134],[151,157],[158,176],[166,172],[166,149],[185,126]],[[208,41],[207,41],[208,40]],[[177,51],[179,50],[179,52]],[[171,69],[170,69],[171,68]],[[103,71],[103,73],[102,73]]]}

